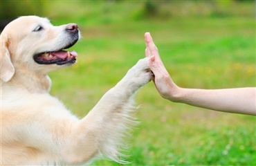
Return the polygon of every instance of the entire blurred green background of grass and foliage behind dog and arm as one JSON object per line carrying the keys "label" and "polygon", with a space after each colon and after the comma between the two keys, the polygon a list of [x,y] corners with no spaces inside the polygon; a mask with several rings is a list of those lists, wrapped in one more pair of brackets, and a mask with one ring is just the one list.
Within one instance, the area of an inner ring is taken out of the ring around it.
{"label": "entire blurred green background of grass and foliage behind dog and arm", "polygon": [[[145,57],[150,32],[176,84],[222,89],[255,86],[255,1],[2,0],[0,28],[21,15],[76,23],[77,63],[50,73],[51,94],[82,117]],[[255,116],[172,103],[149,82],[138,91],[129,165],[256,165]],[[86,150],[86,149],[85,149]],[[92,165],[120,165],[96,160]]]}

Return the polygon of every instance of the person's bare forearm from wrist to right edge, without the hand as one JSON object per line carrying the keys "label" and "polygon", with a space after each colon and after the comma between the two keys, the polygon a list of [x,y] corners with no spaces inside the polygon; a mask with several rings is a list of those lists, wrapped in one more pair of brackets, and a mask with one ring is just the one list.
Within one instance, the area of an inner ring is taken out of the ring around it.
{"label": "person's bare forearm from wrist to right edge, without the hand", "polygon": [[179,88],[169,100],[216,111],[256,115],[255,93],[255,88],[216,90]]}

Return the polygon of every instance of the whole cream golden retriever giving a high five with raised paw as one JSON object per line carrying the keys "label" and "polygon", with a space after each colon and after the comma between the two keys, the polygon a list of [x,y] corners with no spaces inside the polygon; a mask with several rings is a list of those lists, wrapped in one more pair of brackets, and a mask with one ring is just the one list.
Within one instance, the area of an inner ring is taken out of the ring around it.
{"label": "whole cream golden retriever giving a high five with raised paw", "polygon": [[49,94],[50,71],[75,64],[64,50],[80,39],[77,24],[42,17],[11,21],[1,33],[1,165],[77,165],[104,156],[122,162],[123,136],[133,126],[134,94],[152,80],[140,59],[84,118]]}

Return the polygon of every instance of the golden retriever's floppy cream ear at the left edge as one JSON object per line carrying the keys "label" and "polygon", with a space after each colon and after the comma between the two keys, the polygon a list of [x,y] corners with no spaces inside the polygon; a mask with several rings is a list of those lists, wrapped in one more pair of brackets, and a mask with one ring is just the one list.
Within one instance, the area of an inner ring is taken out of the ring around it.
{"label": "golden retriever's floppy cream ear at the left edge", "polygon": [[15,67],[10,59],[10,52],[8,50],[9,39],[7,35],[0,36],[0,78],[4,82],[8,82],[15,74]]}

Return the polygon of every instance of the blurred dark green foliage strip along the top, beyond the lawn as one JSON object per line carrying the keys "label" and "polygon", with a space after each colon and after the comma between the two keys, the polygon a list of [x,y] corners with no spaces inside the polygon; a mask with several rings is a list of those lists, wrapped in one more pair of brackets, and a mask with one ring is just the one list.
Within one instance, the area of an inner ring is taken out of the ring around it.
{"label": "blurred dark green foliage strip along the top, beyond the lawn", "polygon": [[[83,19],[84,24],[116,21],[172,19],[173,17],[254,16],[253,1],[0,1],[0,19],[21,15]],[[241,6],[238,8],[237,6]],[[126,11],[126,12],[123,12]],[[85,20],[84,20],[85,19]],[[0,23],[1,23],[0,21]]]}

